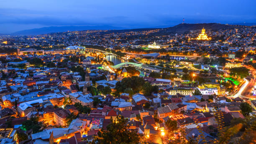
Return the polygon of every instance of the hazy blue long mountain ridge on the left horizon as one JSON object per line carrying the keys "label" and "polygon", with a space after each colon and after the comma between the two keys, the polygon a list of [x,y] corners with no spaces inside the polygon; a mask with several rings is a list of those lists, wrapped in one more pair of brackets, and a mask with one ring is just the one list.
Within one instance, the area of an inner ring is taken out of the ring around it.
{"label": "hazy blue long mountain ridge on the left horizon", "polygon": [[111,25],[95,25],[95,26],[60,26],[60,27],[41,27],[30,30],[21,30],[13,32],[11,35],[39,35],[53,32],[67,32],[80,30],[123,30],[124,27],[114,27]]}

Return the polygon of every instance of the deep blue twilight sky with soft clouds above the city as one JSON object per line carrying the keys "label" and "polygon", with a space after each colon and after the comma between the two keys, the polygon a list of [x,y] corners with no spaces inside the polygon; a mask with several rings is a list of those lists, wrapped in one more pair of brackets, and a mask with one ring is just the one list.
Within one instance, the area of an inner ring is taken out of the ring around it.
{"label": "deep blue twilight sky with soft clouds above the city", "polygon": [[49,26],[125,28],[256,22],[256,0],[0,0],[0,33]]}

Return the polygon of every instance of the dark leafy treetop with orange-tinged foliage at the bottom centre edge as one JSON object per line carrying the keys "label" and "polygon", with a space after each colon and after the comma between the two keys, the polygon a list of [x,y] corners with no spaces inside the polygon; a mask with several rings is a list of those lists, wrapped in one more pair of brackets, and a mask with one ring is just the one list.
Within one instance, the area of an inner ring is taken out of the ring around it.
{"label": "dark leafy treetop with orange-tinged foliage at the bottom centre edge", "polygon": [[141,135],[129,130],[127,119],[121,117],[117,122],[110,123],[107,130],[101,129],[94,137],[92,144],[138,144]]}

